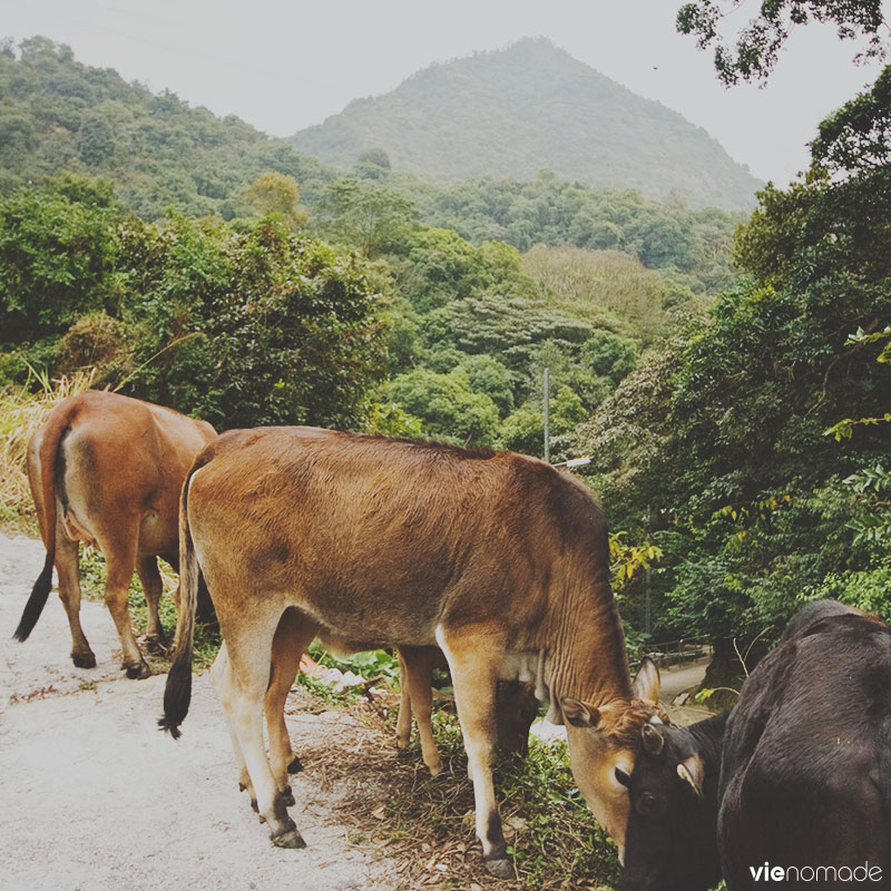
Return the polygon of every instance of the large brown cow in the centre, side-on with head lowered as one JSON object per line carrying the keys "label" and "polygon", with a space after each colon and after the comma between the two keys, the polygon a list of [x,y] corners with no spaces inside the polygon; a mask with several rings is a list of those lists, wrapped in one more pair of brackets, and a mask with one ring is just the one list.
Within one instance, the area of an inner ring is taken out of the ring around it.
{"label": "large brown cow in the centre, side-on with head lowered", "polygon": [[271,770],[263,746],[270,665],[274,676],[293,663],[321,627],[446,654],[492,872],[511,872],[491,774],[500,679],[535,682],[551,719],[566,721],[579,790],[621,849],[628,795],[615,771],[630,773],[657,706],[633,689],[606,527],[581,483],[510,452],[312,428],[233,431],[189,472],[180,549],[161,726],[178,735],[188,711],[203,572],[225,639],[214,679],[276,845],[303,840],[281,793],[286,764],[271,742]]}

